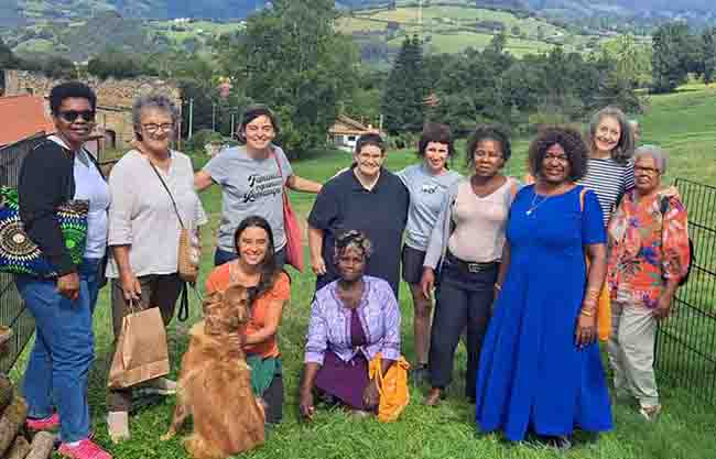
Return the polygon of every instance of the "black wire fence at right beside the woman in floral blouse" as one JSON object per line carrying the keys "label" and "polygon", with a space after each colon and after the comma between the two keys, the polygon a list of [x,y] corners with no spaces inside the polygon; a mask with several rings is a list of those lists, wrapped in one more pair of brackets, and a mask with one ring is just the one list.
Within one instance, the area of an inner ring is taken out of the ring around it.
{"label": "black wire fence at right beside the woman in floral blouse", "polygon": [[716,405],[716,188],[676,179],[695,260],[657,336],[655,368],[670,384]]}

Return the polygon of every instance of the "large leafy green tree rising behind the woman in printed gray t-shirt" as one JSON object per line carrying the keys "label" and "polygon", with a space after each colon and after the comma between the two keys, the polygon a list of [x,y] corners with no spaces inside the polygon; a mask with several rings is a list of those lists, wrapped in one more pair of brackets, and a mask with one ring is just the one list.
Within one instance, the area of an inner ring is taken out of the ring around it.
{"label": "large leafy green tree rising behind the woman in printed gray t-shirt", "polygon": [[219,41],[225,74],[246,98],[271,106],[294,156],[323,146],[340,102],[357,86],[358,53],[334,24],[332,0],[274,0]]}

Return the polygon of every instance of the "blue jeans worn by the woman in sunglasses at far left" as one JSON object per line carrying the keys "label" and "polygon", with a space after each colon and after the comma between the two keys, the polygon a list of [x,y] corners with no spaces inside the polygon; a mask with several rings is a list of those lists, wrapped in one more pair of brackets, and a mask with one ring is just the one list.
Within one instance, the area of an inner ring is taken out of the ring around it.
{"label": "blue jeans worn by the woman in sunglasses at far left", "polygon": [[87,376],[95,360],[91,315],[99,291],[99,263],[85,259],[79,265],[79,297],[74,302],[57,293],[55,280],[15,276],[36,331],[22,387],[28,415],[44,418],[56,406],[59,438],[65,442],[89,435]]}

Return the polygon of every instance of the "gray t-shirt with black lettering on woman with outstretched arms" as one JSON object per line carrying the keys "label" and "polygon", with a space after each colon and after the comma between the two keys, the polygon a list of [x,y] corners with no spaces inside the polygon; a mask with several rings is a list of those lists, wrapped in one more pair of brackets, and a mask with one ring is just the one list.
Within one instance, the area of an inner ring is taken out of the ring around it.
{"label": "gray t-shirt with black lettering on woman with outstretched arms", "polygon": [[283,185],[293,175],[285,153],[273,146],[281,163],[281,174],[273,155],[253,160],[243,146],[226,149],[214,156],[204,171],[221,186],[221,225],[218,247],[234,252],[234,232],[247,217],[267,219],[273,230],[275,250],[286,244],[283,230]]}

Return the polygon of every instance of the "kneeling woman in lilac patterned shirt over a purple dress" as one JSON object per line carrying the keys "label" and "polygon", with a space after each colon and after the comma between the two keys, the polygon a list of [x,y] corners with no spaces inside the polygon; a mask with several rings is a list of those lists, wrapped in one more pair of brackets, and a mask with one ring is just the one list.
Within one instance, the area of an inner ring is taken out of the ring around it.
{"label": "kneeling woman in lilac patterned shirt over a purple dress", "polygon": [[378,407],[378,382],[368,363],[378,352],[382,373],[400,358],[400,309],[390,284],[365,275],[370,241],[360,231],[336,239],[338,275],[316,292],[306,339],[300,411],[315,413],[313,390],[366,416]]}

